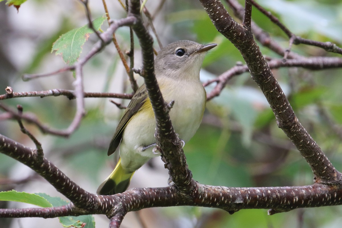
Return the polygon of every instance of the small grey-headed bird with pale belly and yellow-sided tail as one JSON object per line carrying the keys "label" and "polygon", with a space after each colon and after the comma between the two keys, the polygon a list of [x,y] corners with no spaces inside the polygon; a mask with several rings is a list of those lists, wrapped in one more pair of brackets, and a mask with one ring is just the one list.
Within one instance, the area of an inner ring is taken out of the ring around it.
{"label": "small grey-headed bird with pale belly and yellow-sided tail", "polygon": [[[199,71],[205,54],[216,45],[180,40],[162,48],[155,58],[155,76],[164,100],[174,101],[169,115],[182,144],[194,136],[202,121],[207,97]],[[153,108],[143,84],[133,95],[111,139],[108,156],[119,147],[120,158],[114,171],[98,187],[98,195],[126,191],[134,172],[151,158],[160,156],[154,149],[155,129]]]}

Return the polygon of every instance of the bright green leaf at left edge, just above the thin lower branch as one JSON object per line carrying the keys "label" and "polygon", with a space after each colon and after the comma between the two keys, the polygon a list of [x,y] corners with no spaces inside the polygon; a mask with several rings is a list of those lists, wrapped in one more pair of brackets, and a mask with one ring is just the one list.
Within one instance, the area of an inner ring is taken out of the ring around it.
{"label": "bright green leaf at left edge, just above the thin lower branch", "polygon": [[2,191],[0,192],[0,200],[1,201],[15,201],[21,203],[29,203],[40,207],[51,207],[52,204],[49,203],[43,197],[26,192],[17,192],[15,190],[12,191]]}

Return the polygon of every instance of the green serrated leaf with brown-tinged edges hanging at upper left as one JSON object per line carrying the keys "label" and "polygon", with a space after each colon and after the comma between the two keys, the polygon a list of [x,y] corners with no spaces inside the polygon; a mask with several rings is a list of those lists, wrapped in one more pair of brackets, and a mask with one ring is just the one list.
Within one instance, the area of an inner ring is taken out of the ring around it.
{"label": "green serrated leaf with brown-tinged edges hanging at upper left", "polygon": [[[99,30],[106,17],[102,16],[93,21],[95,30]],[[69,65],[73,65],[80,57],[83,44],[88,40],[89,34],[94,31],[87,25],[75,28],[64,33],[52,45],[52,50],[56,51],[56,55],[62,55],[63,61]]]}

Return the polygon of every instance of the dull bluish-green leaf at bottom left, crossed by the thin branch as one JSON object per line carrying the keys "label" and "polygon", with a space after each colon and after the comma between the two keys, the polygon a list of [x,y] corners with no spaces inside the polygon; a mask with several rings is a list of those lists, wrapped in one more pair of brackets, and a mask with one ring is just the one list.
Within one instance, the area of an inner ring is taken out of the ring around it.
{"label": "dull bluish-green leaf at bottom left, crossed by the thin branch", "polygon": [[[67,201],[60,197],[51,197],[45,193],[37,193],[37,195],[49,200],[52,206],[63,206],[68,204]],[[80,216],[63,216],[60,217],[60,223],[64,227],[76,227],[76,228],[94,228],[95,220],[92,215],[80,215]]]}

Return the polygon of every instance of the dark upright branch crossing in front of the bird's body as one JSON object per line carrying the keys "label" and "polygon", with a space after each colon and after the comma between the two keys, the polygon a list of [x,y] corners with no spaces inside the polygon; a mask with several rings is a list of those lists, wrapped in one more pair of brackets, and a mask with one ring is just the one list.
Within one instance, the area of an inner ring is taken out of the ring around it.
{"label": "dark upright branch crossing in front of the bird's body", "polygon": [[[154,74],[153,39],[145,28],[140,15],[140,1],[132,0],[129,7],[129,16],[136,17],[133,30],[139,38],[143,56],[143,70],[148,96],[150,98],[156,117],[156,140],[162,150],[162,159],[166,163],[173,182],[177,187],[188,189],[188,185],[194,185],[191,172],[187,169],[185,155],[179,138],[174,132],[170,116],[167,112],[162,94]],[[183,188],[184,187],[184,188]]]}

